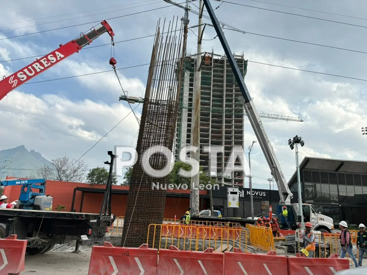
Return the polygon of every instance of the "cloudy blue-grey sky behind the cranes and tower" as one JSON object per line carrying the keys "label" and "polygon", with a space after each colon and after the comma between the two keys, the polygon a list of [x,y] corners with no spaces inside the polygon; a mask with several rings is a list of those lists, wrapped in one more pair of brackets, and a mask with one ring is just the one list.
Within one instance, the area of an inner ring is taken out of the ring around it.
{"label": "cloudy blue-grey sky behind the cranes and tower", "polygon": [[[295,135],[305,141],[299,149],[300,162],[304,157],[364,161],[366,2],[228,2],[232,3],[211,0],[214,8],[219,6],[215,10],[219,21],[246,32],[224,29],[231,51],[249,60],[245,83],[257,110],[304,120],[262,119],[287,180],[295,171],[295,153],[288,146],[288,139]],[[150,62],[157,21],[182,17],[183,9],[163,0],[110,0],[104,6],[96,0],[85,3],[18,0],[3,6],[0,75],[17,72],[36,56],[54,51],[106,19],[115,33],[114,57],[123,89],[128,95],[142,96],[148,74],[144,64]],[[197,11],[199,1],[190,6]],[[205,9],[204,15],[208,15]],[[190,27],[198,24],[194,13],[190,12],[189,20]],[[206,18],[203,22],[211,23]],[[191,27],[188,54],[196,52],[196,35],[197,28]],[[202,50],[223,55],[218,38],[212,39],[215,36],[214,28],[206,26]],[[49,160],[83,156],[91,169],[103,166],[109,159],[107,151],[115,146],[134,147],[139,126],[130,106],[119,102],[123,92],[110,71],[110,42],[108,34],[101,35],[0,100],[0,150],[23,144]],[[88,75],[80,76],[84,74]],[[132,107],[137,107],[139,117],[141,105]],[[248,153],[256,137],[247,118],[244,129]],[[252,182],[269,188],[270,169],[258,143],[251,151],[251,168]]]}

